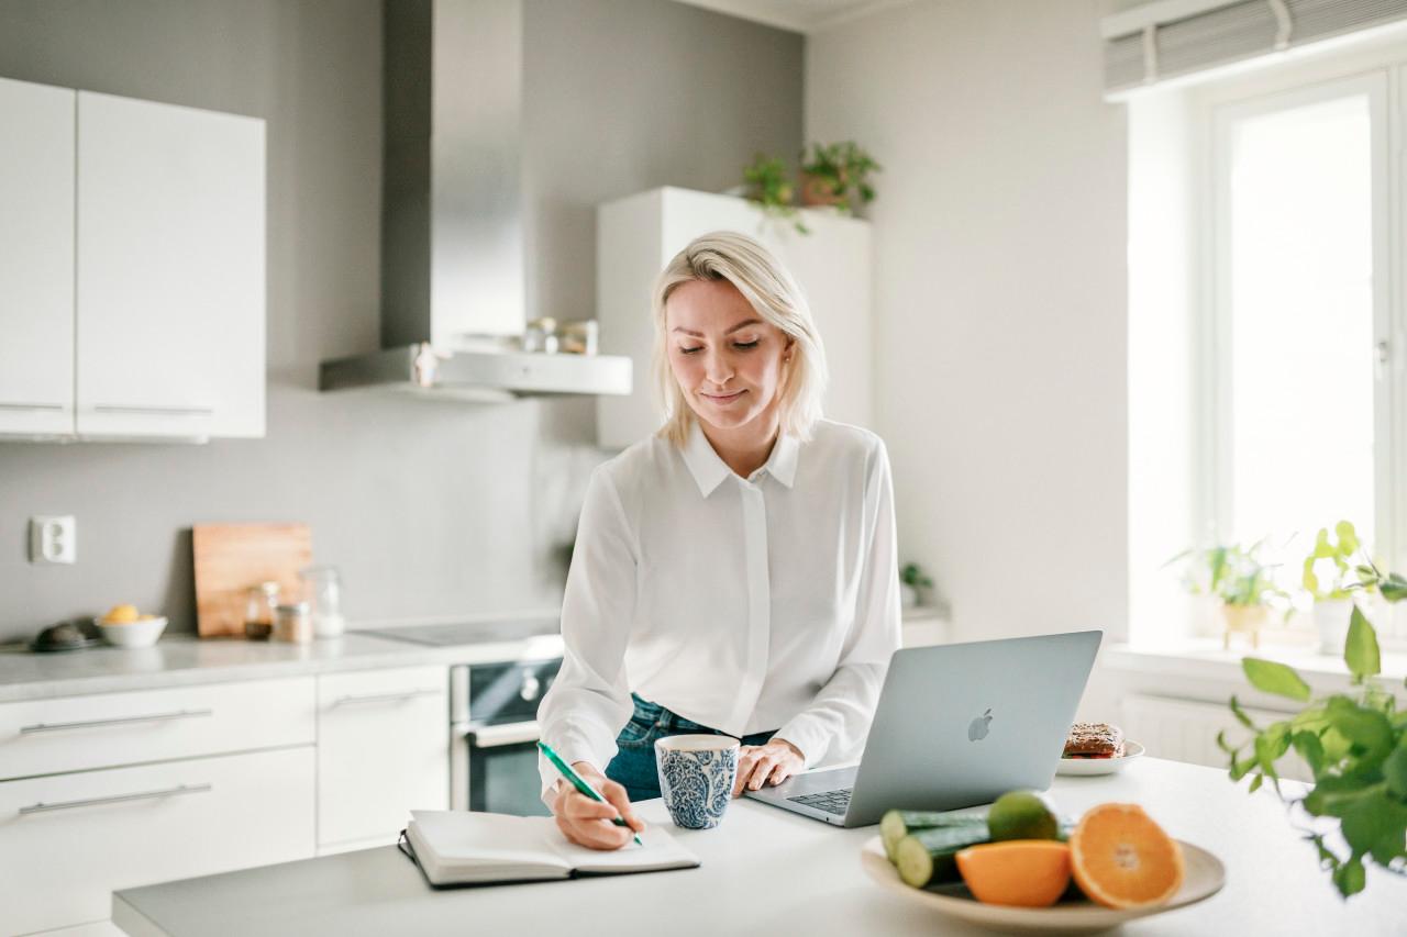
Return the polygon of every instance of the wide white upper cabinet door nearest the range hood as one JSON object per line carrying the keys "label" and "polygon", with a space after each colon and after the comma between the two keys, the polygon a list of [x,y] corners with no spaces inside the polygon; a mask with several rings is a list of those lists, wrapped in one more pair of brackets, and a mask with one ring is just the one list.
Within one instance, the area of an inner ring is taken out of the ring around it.
{"label": "wide white upper cabinet door nearest the range hood", "polygon": [[77,94],[77,433],[262,436],[265,124]]}

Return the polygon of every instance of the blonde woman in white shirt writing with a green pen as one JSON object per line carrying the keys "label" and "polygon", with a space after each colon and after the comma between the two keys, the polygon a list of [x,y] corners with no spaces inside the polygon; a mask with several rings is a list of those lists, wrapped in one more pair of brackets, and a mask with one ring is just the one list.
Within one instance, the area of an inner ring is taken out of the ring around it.
{"label": "blonde woman in white shirt writing with a green pen", "polygon": [[667,419],[591,477],[537,713],[608,801],[542,761],[557,826],[595,848],[642,829],[630,801],[660,795],[661,736],[741,739],[734,795],[858,756],[899,646],[888,456],[820,419],[826,363],[792,277],[715,232],[653,307]]}

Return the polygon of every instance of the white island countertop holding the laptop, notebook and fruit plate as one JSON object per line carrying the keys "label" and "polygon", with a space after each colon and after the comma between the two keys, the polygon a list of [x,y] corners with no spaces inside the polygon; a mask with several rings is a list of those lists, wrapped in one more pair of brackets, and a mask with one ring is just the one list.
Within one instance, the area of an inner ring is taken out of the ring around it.
{"label": "white island countertop holding the laptop, notebook and fruit plate", "polygon": [[[1368,891],[1339,899],[1313,847],[1269,788],[1248,795],[1224,771],[1142,758],[1119,775],[1055,778],[1061,810],[1144,805],[1173,836],[1227,865],[1225,888],[1190,907],[1137,920],[1126,934],[1403,934],[1407,879],[1370,869]],[[668,823],[647,801],[649,823]],[[716,830],[673,830],[698,869],[567,882],[435,891],[394,846],[124,889],[113,922],[132,937],[338,937],[356,934],[991,934],[940,917],[872,884],[860,847],[878,827],[839,830],[737,801]]]}

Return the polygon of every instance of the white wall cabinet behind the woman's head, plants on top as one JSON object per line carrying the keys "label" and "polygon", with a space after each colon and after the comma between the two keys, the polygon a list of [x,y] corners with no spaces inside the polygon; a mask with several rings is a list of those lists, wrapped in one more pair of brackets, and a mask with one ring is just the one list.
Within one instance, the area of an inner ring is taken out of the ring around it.
{"label": "white wall cabinet behind the woman's head, plants on top", "polygon": [[719,229],[765,243],[801,284],[826,348],[826,416],[872,425],[870,224],[826,210],[802,210],[799,218],[809,235],[744,198],[673,187],[598,208],[601,352],[629,356],[639,376],[630,395],[597,398],[601,446],[620,449],[658,429],[661,415],[650,381],[654,279],[689,241]]}

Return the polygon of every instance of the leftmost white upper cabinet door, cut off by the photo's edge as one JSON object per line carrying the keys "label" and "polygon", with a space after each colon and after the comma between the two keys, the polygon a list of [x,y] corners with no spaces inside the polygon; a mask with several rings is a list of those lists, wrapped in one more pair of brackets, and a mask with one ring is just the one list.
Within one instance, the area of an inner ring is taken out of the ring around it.
{"label": "leftmost white upper cabinet door, cut off by the photo's edge", "polygon": [[73,432],[75,98],[0,79],[0,435]]}

